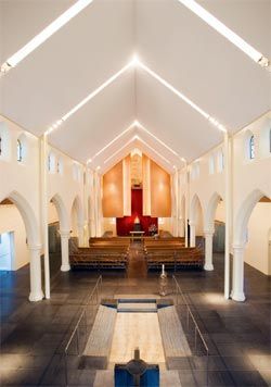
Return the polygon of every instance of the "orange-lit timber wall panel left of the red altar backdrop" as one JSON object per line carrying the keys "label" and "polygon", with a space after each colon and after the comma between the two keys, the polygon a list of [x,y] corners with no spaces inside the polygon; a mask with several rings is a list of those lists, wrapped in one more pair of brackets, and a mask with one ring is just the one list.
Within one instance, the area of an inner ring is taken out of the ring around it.
{"label": "orange-lit timber wall panel left of the red altar backdrop", "polygon": [[122,161],[103,175],[103,216],[124,216]]}

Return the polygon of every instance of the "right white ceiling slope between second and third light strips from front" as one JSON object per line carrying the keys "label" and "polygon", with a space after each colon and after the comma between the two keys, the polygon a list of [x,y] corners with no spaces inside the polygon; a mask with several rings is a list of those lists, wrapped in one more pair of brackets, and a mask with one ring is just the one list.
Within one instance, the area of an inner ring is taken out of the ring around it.
{"label": "right white ceiling slope between second and third light strips from front", "polygon": [[137,116],[180,157],[193,160],[222,140],[222,133],[143,71],[137,71]]}

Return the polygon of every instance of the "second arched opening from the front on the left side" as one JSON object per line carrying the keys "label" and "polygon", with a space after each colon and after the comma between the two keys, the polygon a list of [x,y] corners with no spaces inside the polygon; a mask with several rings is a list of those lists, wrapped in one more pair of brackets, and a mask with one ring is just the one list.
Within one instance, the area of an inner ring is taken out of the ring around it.
{"label": "second arched opening from the front on the left side", "polygon": [[50,276],[52,277],[59,270],[63,272],[69,270],[66,247],[69,238],[69,222],[66,208],[60,195],[53,196],[50,200],[48,219]]}

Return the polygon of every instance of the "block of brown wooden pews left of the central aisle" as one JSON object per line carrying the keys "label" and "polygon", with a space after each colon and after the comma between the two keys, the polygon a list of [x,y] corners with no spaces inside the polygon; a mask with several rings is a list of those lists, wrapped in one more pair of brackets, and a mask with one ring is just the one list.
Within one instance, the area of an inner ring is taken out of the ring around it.
{"label": "block of brown wooden pews left of the central aisle", "polygon": [[90,238],[89,247],[78,247],[69,239],[69,263],[73,269],[122,269],[128,265],[129,238]]}

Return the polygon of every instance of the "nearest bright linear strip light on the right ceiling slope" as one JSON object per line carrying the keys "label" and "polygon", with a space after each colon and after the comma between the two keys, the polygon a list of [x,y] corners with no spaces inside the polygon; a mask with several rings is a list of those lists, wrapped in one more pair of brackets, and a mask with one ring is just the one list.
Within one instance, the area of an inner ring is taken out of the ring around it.
{"label": "nearest bright linear strip light on the right ceiling slope", "polygon": [[242,39],[232,29],[227,27],[210,12],[206,11],[196,1],[194,0],[178,0],[178,1],[182,3],[184,7],[186,7],[188,9],[190,9],[190,11],[195,13],[198,17],[201,17],[204,22],[206,22],[210,27],[216,29],[225,39],[231,41],[240,50],[246,53],[253,61],[258,63],[261,67],[268,67],[270,65],[270,61],[268,60],[268,58],[263,57],[261,52],[257,51],[253,46],[248,45],[244,39]]}

